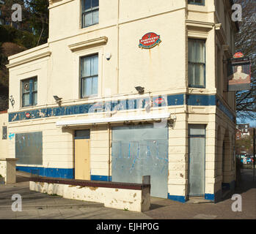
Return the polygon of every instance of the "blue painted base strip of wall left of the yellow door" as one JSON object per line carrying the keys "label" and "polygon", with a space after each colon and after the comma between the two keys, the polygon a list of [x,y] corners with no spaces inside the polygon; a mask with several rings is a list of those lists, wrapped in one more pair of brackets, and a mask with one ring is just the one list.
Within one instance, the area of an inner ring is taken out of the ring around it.
{"label": "blue painted base strip of wall left of the yellow door", "polygon": [[23,167],[17,166],[16,170],[26,173],[38,174],[38,176],[53,178],[74,178],[73,168],[45,168],[45,167]]}

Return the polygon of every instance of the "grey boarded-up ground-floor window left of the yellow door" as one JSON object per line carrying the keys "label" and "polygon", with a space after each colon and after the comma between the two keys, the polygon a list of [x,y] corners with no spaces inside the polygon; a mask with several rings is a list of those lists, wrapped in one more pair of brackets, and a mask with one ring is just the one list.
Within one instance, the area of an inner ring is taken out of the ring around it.
{"label": "grey boarded-up ground-floor window left of the yellow door", "polygon": [[15,157],[18,158],[18,164],[43,165],[43,133],[16,134]]}

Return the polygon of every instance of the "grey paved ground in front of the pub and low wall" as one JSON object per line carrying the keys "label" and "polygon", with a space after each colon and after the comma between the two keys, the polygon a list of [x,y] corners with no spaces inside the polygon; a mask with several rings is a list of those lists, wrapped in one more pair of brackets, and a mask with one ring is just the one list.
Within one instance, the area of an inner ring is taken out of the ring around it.
{"label": "grey paved ground in front of the pub and low wall", "polygon": [[[106,208],[100,203],[68,200],[29,190],[29,178],[17,174],[17,183],[0,185],[0,219],[256,219],[256,182],[243,169],[235,193],[242,196],[242,211],[233,212],[231,196],[220,203],[178,203],[152,197],[144,213]],[[12,211],[11,197],[22,196],[22,211]]]}

